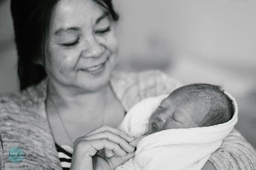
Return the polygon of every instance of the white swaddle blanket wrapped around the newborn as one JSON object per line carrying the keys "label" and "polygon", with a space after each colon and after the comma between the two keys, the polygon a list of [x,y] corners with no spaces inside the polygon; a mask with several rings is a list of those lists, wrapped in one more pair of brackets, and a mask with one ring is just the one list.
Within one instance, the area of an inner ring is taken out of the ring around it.
{"label": "white swaddle blanket wrapped around the newborn", "polygon": [[[236,101],[230,94],[227,96],[233,100],[235,109],[230,121],[209,127],[162,130],[148,135],[137,145],[134,158],[116,170],[201,170],[237,122]],[[119,129],[136,137],[145,134],[151,113],[166,97],[152,97],[137,103]]]}

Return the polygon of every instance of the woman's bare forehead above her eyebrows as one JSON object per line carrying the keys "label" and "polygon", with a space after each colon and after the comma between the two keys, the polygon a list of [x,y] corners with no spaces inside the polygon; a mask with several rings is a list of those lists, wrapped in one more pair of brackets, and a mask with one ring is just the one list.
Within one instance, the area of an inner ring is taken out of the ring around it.
{"label": "woman's bare forehead above her eyebrows", "polygon": [[60,0],[52,15],[52,31],[60,27],[93,26],[105,12],[93,0]]}

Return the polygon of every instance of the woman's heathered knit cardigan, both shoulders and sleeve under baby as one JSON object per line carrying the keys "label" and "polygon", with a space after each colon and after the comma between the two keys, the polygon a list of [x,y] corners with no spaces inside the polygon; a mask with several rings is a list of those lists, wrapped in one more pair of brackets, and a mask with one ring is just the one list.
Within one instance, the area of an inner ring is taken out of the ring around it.
{"label": "woman's heathered knit cardigan, both shoulders and sleeve under baby", "polygon": [[[160,71],[115,73],[110,83],[125,111],[144,98],[169,94],[180,86]],[[0,170],[62,169],[47,119],[46,98],[47,79],[22,92],[0,96]],[[14,147],[25,154],[19,163],[9,159]],[[209,161],[217,170],[256,170],[256,151],[233,130]]]}

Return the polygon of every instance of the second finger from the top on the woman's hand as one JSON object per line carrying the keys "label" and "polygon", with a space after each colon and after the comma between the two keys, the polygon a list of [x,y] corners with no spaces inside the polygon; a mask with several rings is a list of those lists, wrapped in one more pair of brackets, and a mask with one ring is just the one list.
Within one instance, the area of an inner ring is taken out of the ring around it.
{"label": "second finger from the top on the woman's hand", "polygon": [[104,131],[104,132],[96,133],[90,136],[86,136],[84,137],[84,140],[94,140],[94,139],[101,139],[101,138],[108,139],[111,142],[119,144],[119,146],[126,152],[134,151],[134,147],[132,147],[125,139],[122,139],[120,136],[117,136],[116,134],[110,131]]}

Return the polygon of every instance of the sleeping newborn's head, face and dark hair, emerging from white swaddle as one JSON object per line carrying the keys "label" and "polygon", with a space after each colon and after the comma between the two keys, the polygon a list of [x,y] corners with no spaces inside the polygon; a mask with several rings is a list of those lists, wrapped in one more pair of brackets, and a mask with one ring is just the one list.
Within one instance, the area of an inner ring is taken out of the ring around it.
{"label": "sleeping newborn's head, face and dark hair, emerging from white swaddle", "polygon": [[149,119],[147,135],[160,130],[217,125],[232,118],[232,101],[219,86],[192,84],[173,91]]}

